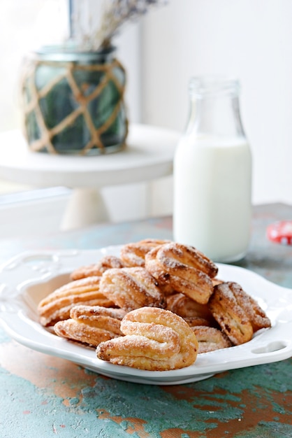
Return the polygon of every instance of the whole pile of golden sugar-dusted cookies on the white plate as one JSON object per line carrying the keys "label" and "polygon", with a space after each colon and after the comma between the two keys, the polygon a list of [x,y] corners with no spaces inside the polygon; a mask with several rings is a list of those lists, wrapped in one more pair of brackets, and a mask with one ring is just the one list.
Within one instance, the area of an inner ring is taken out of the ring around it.
{"label": "whole pile of golden sugar-dusted cookies on the white plate", "polygon": [[270,327],[238,283],[192,246],[145,239],[71,273],[38,305],[40,322],[96,348],[101,360],[163,371],[192,365],[198,353],[249,341]]}

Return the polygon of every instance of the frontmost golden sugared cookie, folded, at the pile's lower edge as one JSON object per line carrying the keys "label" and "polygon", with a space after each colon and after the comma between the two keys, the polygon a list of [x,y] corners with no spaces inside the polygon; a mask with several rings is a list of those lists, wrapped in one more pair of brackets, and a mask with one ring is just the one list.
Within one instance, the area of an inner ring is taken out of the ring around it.
{"label": "frontmost golden sugared cookie, folded, at the pile's lower edge", "polygon": [[180,369],[194,364],[198,341],[191,327],[175,313],[143,307],[124,316],[124,337],[101,342],[99,359],[149,371]]}

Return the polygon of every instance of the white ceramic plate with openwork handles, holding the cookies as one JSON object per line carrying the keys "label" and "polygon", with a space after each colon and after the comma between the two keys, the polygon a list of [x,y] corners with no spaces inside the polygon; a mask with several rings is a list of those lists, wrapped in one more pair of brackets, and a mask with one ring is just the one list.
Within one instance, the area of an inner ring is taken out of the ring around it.
{"label": "white ceramic plate with openwork handles, holding the cookies", "polygon": [[96,358],[93,348],[66,341],[38,323],[38,302],[69,280],[76,267],[105,254],[119,255],[120,246],[101,250],[22,253],[0,268],[0,322],[10,337],[29,348],[65,358],[114,379],[152,385],[175,385],[207,379],[228,369],[277,362],[292,355],[292,290],[251,271],[217,264],[219,278],[237,281],[268,314],[272,327],[257,332],[241,346],[198,355],[194,365],[175,371],[148,372],[112,365]]}

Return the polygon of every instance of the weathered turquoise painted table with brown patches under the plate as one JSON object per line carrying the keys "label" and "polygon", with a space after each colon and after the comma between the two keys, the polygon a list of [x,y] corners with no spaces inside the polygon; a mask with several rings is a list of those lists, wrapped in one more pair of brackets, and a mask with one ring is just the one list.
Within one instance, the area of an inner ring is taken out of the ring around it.
{"label": "weathered turquoise painted table with brown patches under the plate", "polygon": [[[282,219],[292,219],[291,206],[254,209],[249,253],[238,265],[292,289],[292,246],[265,234]],[[3,240],[0,261],[27,250],[88,250],[146,237],[171,239],[171,218]],[[34,351],[0,328],[0,437],[292,437],[291,365],[289,358],[173,386],[129,383]]]}

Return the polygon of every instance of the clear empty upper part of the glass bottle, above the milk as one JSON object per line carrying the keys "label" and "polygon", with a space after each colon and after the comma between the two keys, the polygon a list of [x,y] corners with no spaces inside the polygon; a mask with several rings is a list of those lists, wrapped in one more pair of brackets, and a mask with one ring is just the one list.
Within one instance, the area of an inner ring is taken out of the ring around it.
{"label": "clear empty upper part of the glass bottle, above the milk", "polygon": [[191,82],[188,134],[244,137],[235,85],[234,81],[224,86],[217,81],[203,87],[198,80]]}

